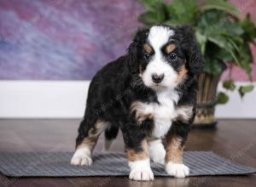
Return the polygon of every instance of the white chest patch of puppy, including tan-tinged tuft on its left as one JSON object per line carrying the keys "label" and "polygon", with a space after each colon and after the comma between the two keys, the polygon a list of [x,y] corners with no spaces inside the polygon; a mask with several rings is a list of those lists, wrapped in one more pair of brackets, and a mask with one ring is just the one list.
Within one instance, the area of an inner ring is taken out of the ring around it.
{"label": "white chest patch of puppy, including tan-tinged tuft on its left", "polygon": [[159,104],[135,102],[131,105],[131,111],[136,111],[138,121],[144,120],[147,116],[152,116],[154,119],[152,136],[161,138],[166,135],[172,126],[172,120],[177,117],[175,103],[177,103],[179,95],[177,91],[171,90],[160,92],[157,94],[157,97]]}

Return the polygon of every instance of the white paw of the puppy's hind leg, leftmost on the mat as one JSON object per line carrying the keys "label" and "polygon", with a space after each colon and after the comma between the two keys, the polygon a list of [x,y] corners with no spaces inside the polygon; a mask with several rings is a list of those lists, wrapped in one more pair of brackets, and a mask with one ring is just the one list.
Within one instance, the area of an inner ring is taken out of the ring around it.
{"label": "white paw of the puppy's hind leg, leftmost on the mat", "polygon": [[87,148],[76,150],[70,163],[76,166],[90,166],[92,164],[90,150]]}

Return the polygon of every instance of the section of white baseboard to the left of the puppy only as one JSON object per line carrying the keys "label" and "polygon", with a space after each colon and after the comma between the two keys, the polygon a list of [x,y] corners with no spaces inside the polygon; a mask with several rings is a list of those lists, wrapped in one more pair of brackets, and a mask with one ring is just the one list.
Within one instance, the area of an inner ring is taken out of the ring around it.
{"label": "section of white baseboard to the left of the puppy only", "polygon": [[81,117],[84,114],[89,83],[79,81],[1,81],[0,117]]}

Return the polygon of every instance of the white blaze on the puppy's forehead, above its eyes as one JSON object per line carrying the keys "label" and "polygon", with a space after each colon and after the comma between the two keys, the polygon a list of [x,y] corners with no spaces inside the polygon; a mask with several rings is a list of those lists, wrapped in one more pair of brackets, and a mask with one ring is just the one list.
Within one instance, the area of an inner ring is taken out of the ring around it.
{"label": "white blaze on the puppy's forehead, above its eyes", "polygon": [[149,30],[148,42],[150,42],[154,50],[157,50],[166,44],[173,35],[174,31],[166,26],[153,26]]}

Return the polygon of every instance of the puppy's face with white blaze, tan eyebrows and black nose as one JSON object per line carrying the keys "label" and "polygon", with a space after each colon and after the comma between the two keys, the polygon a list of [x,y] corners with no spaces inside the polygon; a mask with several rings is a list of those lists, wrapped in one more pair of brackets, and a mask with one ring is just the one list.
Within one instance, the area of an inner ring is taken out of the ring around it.
{"label": "puppy's face with white blaze, tan eyebrows and black nose", "polygon": [[180,71],[186,71],[184,55],[177,41],[172,39],[174,35],[175,31],[163,26],[153,26],[148,31],[139,69],[144,84],[149,88],[174,88],[181,79]]}

